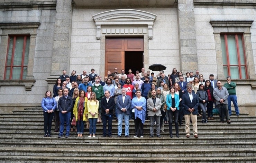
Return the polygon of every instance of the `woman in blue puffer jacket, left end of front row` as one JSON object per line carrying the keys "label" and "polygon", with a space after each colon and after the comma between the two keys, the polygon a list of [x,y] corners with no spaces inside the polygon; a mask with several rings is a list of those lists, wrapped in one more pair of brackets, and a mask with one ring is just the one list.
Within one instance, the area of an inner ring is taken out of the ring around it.
{"label": "woman in blue puffer jacket, left end of front row", "polygon": [[44,110],[44,137],[51,137],[52,121],[54,111],[57,108],[51,91],[46,91],[41,106]]}

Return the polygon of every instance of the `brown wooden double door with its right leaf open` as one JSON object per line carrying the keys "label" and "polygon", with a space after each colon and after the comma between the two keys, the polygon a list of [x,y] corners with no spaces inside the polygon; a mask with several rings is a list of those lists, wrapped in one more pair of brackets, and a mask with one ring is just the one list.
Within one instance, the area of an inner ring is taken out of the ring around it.
{"label": "brown wooden double door with its right leaf open", "polygon": [[[143,38],[106,38],[105,73],[114,71],[121,72],[125,69],[140,70],[143,67]],[[135,71],[134,71],[135,70]]]}

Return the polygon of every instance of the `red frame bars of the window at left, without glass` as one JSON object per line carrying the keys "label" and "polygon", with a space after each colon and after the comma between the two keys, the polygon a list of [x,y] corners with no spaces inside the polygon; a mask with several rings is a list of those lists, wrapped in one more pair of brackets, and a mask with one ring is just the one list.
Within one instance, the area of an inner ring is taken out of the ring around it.
{"label": "red frame bars of the window at left, without glass", "polygon": [[[14,53],[15,53],[15,45],[16,45],[16,38],[17,37],[24,37],[23,41],[23,50],[22,50],[22,59],[21,59],[21,65],[13,65],[13,58],[14,58]],[[10,38],[13,37],[13,47],[12,47],[12,54],[11,54],[11,65],[7,65],[7,60],[8,60],[8,53],[9,53],[9,45],[10,45]],[[6,54],[6,63],[5,63],[5,69],[4,69],[4,80],[12,80],[12,71],[14,67],[21,67],[21,72],[20,72],[20,80],[22,80],[23,77],[23,70],[24,68],[28,67],[27,65],[24,65],[24,58],[25,58],[25,50],[26,50],[26,43],[27,43],[27,37],[30,37],[30,35],[9,35],[8,38],[8,45],[7,45],[7,54]],[[10,69],[10,78],[6,79],[6,70],[7,68]]]}

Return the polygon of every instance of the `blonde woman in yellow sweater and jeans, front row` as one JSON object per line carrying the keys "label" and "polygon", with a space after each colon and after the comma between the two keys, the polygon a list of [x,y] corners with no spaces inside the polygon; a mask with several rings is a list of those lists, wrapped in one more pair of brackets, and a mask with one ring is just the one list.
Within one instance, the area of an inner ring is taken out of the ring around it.
{"label": "blonde woman in yellow sweater and jeans, front row", "polygon": [[96,94],[94,92],[91,93],[90,100],[87,102],[88,108],[88,120],[90,122],[89,128],[89,136],[95,137],[96,133],[96,123],[98,119],[98,110],[99,110],[99,101],[96,99]]}

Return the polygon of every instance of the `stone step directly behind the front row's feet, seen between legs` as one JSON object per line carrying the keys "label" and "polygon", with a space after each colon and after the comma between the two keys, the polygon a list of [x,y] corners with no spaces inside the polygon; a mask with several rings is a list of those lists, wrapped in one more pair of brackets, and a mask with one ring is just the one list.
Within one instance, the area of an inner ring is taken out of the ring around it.
{"label": "stone step directly behind the front row's feet, seen between legs", "polygon": [[[98,130],[97,130],[98,131]],[[101,137],[102,132],[97,132],[96,131],[96,136],[97,137]],[[64,130],[65,133],[65,130]],[[59,132],[53,132],[51,133],[52,137],[57,137],[59,134]],[[183,132],[179,132],[180,137],[185,137],[185,131],[183,130]],[[191,135],[193,135],[192,131],[190,133]],[[25,137],[33,137],[33,136],[37,136],[37,137],[43,137],[44,136],[44,130],[38,130],[38,131],[31,131],[31,130],[23,130],[23,131],[0,131],[0,136],[25,136]],[[89,136],[89,131],[85,130],[84,132],[84,137]],[[133,137],[135,135],[135,133],[129,133],[130,137]],[[150,134],[149,133],[144,133],[145,137],[148,137]],[[255,137],[256,136],[256,132],[201,132],[199,131],[198,135],[200,137]],[[70,137],[76,137],[77,134],[75,132],[71,132],[70,133]],[[117,132],[112,132],[112,136],[113,137],[117,137]],[[122,136],[124,136],[124,132],[122,133]],[[156,134],[155,134],[156,136]],[[163,133],[161,133],[162,137],[169,137],[169,132],[165,131]],[[175,132],[173,132],[173,137],[176,137]]]}

